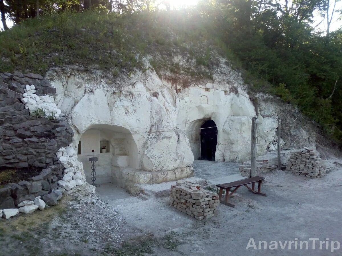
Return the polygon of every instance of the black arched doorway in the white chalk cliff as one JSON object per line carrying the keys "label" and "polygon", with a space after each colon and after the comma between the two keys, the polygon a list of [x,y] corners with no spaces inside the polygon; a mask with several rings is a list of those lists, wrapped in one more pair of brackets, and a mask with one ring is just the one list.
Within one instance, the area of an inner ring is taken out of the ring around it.
{"label": "black arched doorway in the white chalk cliff", "polygon": [[[210,128],[211,127],[211,128]],[[213,120],[207,120],[201,128],[201,160],[215,161],[217,127]]]}

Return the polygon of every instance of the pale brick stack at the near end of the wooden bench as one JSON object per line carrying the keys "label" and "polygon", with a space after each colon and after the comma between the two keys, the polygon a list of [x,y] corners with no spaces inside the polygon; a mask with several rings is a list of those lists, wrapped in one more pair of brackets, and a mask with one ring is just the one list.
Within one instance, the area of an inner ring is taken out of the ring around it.
{"label": "pale brick stack at the near end of the wooden bench", "polygon": [[170,205],[198,220],[215,216],[219,203],[217,193],[209,192],[199,184],[177,181],[171,186]]}

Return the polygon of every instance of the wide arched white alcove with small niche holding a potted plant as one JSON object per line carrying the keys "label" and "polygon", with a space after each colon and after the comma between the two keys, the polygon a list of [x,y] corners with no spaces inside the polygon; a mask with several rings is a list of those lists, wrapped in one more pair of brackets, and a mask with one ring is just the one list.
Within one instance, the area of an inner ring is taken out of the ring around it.
{"label": "wide arched white alcove with small niche holding a potted plant", "polygon": [[[96,162],[96,183],[115,182],[114,172],[119,168],[136,169],[138,167],[137,147],[132,134],[126,128],[97,124],[83,132],[78,145],[78,160],[83,163],[87,182],[91,181],[89,157],[98,157]],[[106,153],[101,147],[106,146]]]}

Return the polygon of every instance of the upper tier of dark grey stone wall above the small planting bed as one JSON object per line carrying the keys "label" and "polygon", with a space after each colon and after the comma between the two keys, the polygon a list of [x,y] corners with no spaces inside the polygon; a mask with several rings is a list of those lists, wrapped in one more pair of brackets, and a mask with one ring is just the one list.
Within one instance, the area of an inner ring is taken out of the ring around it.
{"label": "upper tier of dark grey stone wall above the small planting bed", "polygon": [[[47,168],[57,150],[72,142],[73,131],[64,120],[37,118],[20,101],[26,83],[36,94],[54,94],[40,75],[0,73],[0,168]],[[5,88],[4,88],[5,87]],[[8,90],[8,89],[10,90]],[[12,90],[12,91],[11,91]],[[14,91],[14,92],[13,92]],[[19,94],[18,94],[19,93]]]}

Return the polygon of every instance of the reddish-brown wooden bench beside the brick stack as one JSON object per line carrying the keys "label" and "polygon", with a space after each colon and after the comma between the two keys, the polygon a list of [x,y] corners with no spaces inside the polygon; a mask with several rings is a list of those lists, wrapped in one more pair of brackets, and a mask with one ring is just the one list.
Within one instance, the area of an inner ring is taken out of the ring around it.
{"label": "reddish-brown wooden bench beside the brick stack", "polygon": [[[216,185],[216,187],[220,188],[220,193],[219,193],[219,199],[221,201],[221,203],[224,203],[226,205],[229,205],[231,207],[234,207],[234,204],[228,203],[228,199],[236,192],[236,190],[238,190],[239,187],[241,186],[245,186],[247,187],[251,192],[253,192],[254,194],[259,194],[262,196],[266,196],[266,194],[263,194],[260,192],[261,189],[261,183],[262,181],[265,180],[265,178],[260,177],[260,176],[255,176],[252,178],[247,178],[247,179],[243,179],[240,181],[234,181],[234,182],[229,182],[229,183],[224,183],[224,184],[218,184]],[[255,187],[255,182],[258,182],[258,191],[254,190]],[[247,186],[248,184],[252,184],[252,188],[250,188],[249,186]],[[232,191],[232,193],[229,194],[229,191],[231,191],[232,187],[236,187],[234,188],[234,190]],[[223,189],[226,190],[226,196],[225,196],[225,200],[222,200],[222,192]]]}

